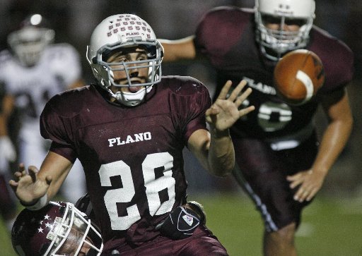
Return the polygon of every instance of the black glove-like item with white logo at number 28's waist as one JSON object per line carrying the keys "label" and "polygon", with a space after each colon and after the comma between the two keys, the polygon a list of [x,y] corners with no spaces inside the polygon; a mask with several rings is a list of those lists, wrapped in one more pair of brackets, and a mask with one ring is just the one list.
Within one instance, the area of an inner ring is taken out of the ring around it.
{"label": "black glove-like item with white logo at number 28's waist", "polygon": [[200,223],[205,224],[206,217],[204,207],[198,202],[187,202],[188,207],[179,206],[175,208],[165,221],[156,226],[163,236],[173,240],[179,240],[192,236]]}

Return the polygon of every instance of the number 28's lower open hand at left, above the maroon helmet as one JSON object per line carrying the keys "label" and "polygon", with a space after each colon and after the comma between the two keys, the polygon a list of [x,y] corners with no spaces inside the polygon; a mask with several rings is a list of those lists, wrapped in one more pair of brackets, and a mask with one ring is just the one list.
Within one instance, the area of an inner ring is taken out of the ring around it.
{"label": "number 28's lower open hand at left, above the maroon helmet", "polygon": [[28,171],[25,170],[24,164],[19,164],[19,169],[14,173],[14,180],[9,181],[16,197],[24,205],[32,205],[40,197],[47,193],[52,177],[47,176],[45,181],[37,178],[39,170],[35,166],[29,166]]}

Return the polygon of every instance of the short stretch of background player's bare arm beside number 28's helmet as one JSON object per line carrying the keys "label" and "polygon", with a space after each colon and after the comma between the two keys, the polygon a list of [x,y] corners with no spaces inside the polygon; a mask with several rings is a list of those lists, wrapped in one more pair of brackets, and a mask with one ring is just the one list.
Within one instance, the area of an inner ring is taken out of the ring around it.
{"label": "short stretch of background player's bare arm beside number 28's helmet", "polygon": [[177,40],[158,39],[164,49],[163,61],[180,61],[183,59],[194,59],[196,49],[194,36]]}

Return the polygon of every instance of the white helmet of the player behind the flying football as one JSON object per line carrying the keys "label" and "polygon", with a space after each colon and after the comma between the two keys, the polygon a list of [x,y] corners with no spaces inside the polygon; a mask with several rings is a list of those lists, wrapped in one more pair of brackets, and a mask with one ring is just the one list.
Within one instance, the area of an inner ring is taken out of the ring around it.
{"label": "white helmet of the player behind the flying football", "polygon": [[[287,51],[305,47],[315,18],[314,0],[255,0],[257,42],[262,54],[278,61]],[[266,23],[280,22],[279,30],[266,28]],[[300,25],[297,31],[284,31],[288,23]]]}

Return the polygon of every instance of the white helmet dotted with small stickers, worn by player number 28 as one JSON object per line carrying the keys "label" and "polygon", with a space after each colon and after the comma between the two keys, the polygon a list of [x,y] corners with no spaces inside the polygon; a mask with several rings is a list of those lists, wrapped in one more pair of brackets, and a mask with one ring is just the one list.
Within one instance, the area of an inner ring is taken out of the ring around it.
{"label": "white helmet dotted with small stickers, worn by player number 28", "polygon": [[[141,61],[107,62],[110,52],[122,51],[124,47],[141,47],[146,50],[148,59]],[[110,92],[118,102],[126,106],[140,104],[152,86],[161,80],[161,62],[163,47],[146,21],[133,14],[119,14],[105,18],[93,31],[91,44],[87,47],[87,60],[100,87]],[[134,84],[129,72],[136,68],[148,68],[146,83]],[[128,84],[115,83],[114,71],[124,71]],[[110,86],[144,86],[137,92],[112,92]]]}

